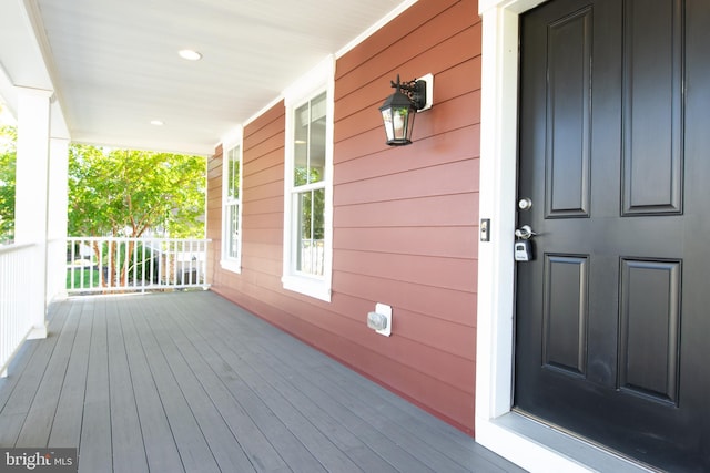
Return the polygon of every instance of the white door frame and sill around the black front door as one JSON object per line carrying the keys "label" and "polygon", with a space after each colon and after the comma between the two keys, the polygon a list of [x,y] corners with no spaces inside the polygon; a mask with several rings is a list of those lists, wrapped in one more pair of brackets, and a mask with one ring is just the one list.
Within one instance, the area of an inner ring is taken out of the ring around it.
{"label": "white door frame and sill around the black front door", "polygon": [[479,0],[483,17],[476,441],[529,471],[648,471],[511,412],[518,140],[518,24],[546,0]]}

